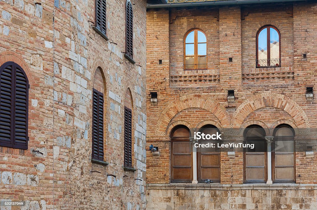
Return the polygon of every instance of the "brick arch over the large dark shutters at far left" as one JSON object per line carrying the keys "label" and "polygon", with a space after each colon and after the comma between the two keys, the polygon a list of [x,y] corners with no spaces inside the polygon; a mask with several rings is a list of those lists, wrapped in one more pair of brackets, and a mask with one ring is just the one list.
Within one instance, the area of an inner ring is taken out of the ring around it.
{"label": "brick arch over the large dark shutters at far left", "polygon": [[4,51],[0,53],[0,66],[2,66],[3,63],[12,61],[14,63],[17,63],[21,68],[24,70],[26,76],[28,77],[29,84],[32,86],[32,83],[34,83],[34,79],[32,76],[32,73],[29,69],[28,64],[24,61],[24,59],[17,53],[12,51]]}

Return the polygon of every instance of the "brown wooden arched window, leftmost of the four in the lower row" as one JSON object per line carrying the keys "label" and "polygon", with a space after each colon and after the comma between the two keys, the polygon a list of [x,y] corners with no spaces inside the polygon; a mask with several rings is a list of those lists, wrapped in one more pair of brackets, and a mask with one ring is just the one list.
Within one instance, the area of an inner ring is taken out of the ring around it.
{"label": "brown wooden arched window, leftmost of the four in the lower row", "polygon": [[190,131],[186,126],[178,126],[171,132],[171,181],[192,181],[192,146]]}

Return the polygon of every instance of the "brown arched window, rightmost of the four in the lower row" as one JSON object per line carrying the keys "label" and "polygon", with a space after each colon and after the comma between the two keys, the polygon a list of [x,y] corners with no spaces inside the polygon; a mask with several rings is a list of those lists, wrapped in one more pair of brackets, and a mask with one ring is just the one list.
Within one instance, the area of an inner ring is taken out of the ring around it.
{"label": "brown arched window, rightmost of the four in the lower row", "polygon": [[294,129],[287,124],[281,124],[274,129],[273,135],[273,181],[295,182]]}

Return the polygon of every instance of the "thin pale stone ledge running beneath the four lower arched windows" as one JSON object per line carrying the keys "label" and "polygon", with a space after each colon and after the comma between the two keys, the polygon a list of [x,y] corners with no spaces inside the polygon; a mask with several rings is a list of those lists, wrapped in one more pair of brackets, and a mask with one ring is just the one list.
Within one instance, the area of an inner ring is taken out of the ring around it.
{"label": "thin pale stone ledge running beneath the four lower arched windows", "polygon": [[317,189],[317,184],[147,184],[146,189],[214,189],[214,190],[243,190],[243,189]]}

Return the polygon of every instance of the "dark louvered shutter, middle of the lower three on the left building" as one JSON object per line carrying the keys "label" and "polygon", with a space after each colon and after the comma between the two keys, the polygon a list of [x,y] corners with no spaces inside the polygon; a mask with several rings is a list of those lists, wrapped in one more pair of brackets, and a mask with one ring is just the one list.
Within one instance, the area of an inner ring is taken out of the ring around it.
{"label": "dark louvered shutter, middle of the lower three on the left building", "polygon": [[92,158],[103,161],[103,94],[93,89]]}

